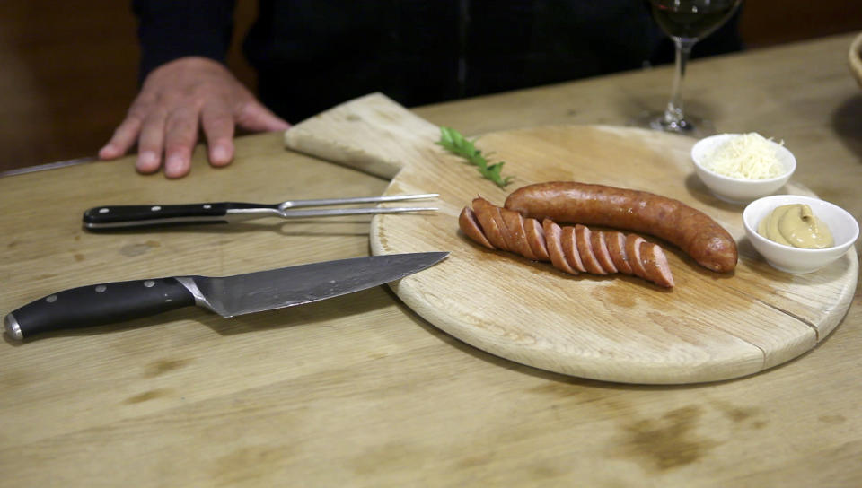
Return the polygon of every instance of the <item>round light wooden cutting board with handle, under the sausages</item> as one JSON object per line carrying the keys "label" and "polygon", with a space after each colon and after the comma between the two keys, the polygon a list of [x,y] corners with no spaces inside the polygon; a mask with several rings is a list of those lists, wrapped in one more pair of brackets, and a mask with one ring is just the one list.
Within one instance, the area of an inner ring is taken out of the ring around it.
{"label": "round light wooden cutting board with handle, under the sausages", "polygon": [[[457,128],[457,127],[455,127]],[[286,144],[391,178],[387,194],[437,192],[440,210],[374,218],[374,254],[446,250],[444,262],[392,283],[411,309],[465,343],[514,362],[588,379],[695,383],[732,379],[813,348],[847,312],[858,280],[851,249],[814,274],[770,267],[744,236],[743,207],[711,196],[694,175],[694,141],[635,128],[544,126],[482,135],[506,161],[505,189],[435,144],[439,129],[382,95],[295,126]],[[716,274],[665,248],[676,286],[571,276],[548,263],[489,251],[458,230],[475,196],[503,205],[517,187],[576,180],[647,190],[708,213],[734,235],[740,261]],[[810,195],[796,183],[783,193]]]}

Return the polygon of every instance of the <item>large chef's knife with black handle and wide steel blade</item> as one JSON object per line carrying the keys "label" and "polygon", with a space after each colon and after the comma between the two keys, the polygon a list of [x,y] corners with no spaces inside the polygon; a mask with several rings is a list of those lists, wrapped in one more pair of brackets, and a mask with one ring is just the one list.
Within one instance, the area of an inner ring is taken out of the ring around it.
{"label": "large chef's knife with black handle and wide steel blade", "polygon": [[321,301],[389,283],[432,266],[448,252],[354,257],[224,277],[172,276],[101,283],[48,295],[4,318],[21,340],[41,332],[90,327],[198,305],[222,317]]}

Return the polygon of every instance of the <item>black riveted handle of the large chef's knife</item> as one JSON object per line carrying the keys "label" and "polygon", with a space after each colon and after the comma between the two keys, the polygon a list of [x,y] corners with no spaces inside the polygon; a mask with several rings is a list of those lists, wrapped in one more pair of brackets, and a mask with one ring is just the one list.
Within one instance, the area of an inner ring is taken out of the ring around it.
{"label": "black riveted handle of the large chef's knife", "polygon": [[141,318],[195,304],[175,278],[93,284],[31,301],[4,318],[6,333],[22,339],[42,332]]}

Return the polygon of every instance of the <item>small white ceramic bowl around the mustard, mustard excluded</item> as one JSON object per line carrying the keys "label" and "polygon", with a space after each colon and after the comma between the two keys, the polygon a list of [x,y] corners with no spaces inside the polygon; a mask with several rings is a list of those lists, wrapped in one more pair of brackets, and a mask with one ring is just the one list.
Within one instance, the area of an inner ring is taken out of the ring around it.
{"label": "small white ceramic bowl around the mustard, mustard excluded", "polygon": [[[823,249],[802,249],[778,244],[757,233],[763,218],[781,205],[807,204],[823,223],[829,226],[835,245]],[[773,195],[753,201],[743,211],[745,234],[771,266],[787,273],[813,273],[844,256],[859,237],[859,224],[847,211],[813,196]]]}

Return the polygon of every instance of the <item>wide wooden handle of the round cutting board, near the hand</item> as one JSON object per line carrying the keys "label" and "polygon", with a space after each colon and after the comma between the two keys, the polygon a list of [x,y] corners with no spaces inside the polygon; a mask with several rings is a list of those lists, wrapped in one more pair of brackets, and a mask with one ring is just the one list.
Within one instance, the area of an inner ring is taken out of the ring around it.
{"label": "wide wooden handle of the round cutting board, near the hand", "polygon": [[371,93],[289,128],[288,149],[392,179],[418,151],[434,146],[440,129],[391,100]]}

